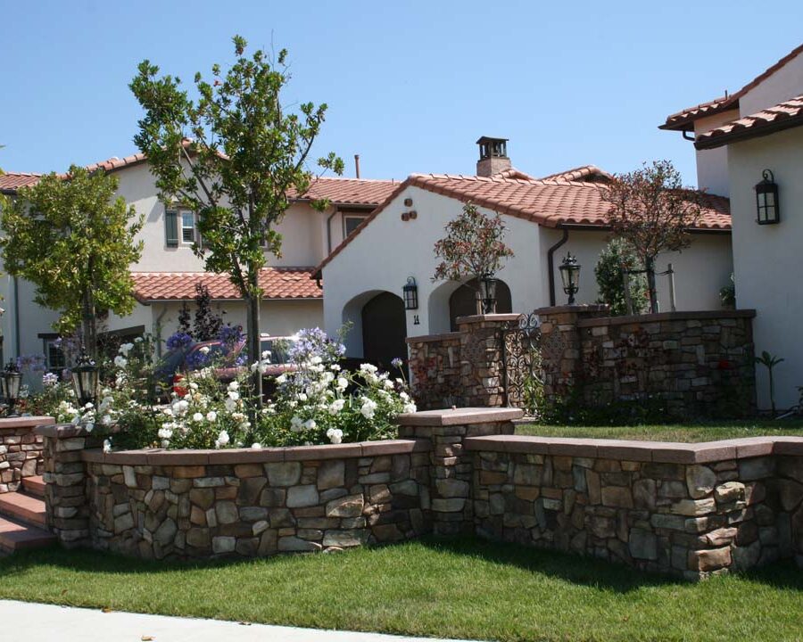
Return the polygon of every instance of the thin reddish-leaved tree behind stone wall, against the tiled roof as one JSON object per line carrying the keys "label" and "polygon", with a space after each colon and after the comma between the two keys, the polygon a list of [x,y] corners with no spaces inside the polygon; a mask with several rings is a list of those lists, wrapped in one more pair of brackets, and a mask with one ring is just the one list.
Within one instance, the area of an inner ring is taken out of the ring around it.
{"label": "thin reddish-leaved tree behind stone wall, against the tiled roof", "polygon": [[616,237],[633,247],[647,272],[650,311],[658,312],[655,259],[662,251],[678,251],[691,243],[689,228],[700,218],[702,194],[683,187],[670,161],[646,163],[642,169],[614,177],[602,198]]}

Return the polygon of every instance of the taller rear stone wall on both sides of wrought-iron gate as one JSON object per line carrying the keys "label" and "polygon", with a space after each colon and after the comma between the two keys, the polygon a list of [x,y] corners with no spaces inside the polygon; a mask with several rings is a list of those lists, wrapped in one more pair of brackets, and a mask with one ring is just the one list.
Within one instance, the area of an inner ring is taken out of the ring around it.
{"label": "taller rear stone wall on both sides of wrought-iron gate", "polygon": [[[582,401],[593,407],[659,399],[669,414],[682,418],[744,416],[755,410],[754,310],[608,317],[607,306],[590,305],[535,313],[542,322],[548,402]],[[501,336],[517,319],[462,317],[458,333],[408,339],[419,406],[507,403]]]}

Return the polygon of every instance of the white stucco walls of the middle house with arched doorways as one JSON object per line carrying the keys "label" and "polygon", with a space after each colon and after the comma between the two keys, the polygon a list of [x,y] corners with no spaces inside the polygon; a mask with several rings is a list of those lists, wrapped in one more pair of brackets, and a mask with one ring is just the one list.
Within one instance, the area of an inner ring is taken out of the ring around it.
{"label": "white stucco walls of the middle house with arched doorways", "polygon": [[[412,198],[418,218],[401,219],[405,198]],[[324,319],[327,333],[345,321],[354,324],[347,342],[350,356],[362,356],[360,311],[379,292],[402,296],[408,276],[418,283],[418,310],[407,311],[408,336],[449,332],[448,300],[457,284],[433,284],[435,241],[443,228],[456,217],[462,204],[443,195],[409,187],[399,194],[343,252],[324,268]],[[486,210],[487,211],[487,210]],[[505,242],[515,252],[498,273],[509,285],[513,310],[524,312],[549,305],[547,251],[561,237],[555,229],[543,228],[519,218],[502,216],[508,232]],[[663,271],[672,262],[678,309],[719,309],[719,289],[727,284],[732,271],[729,235],[694,235],[691,248],[658,259]],[[556,300],[567,300],[557,272],[567,251],[583,266],[578,303],[592,303],[598,297],[593,268],[608,235],[598,231],[573,230],[568,242],[555,254]],[[669,309],[666,277],[658,277],[662,309]],[[418,325],[414,323],[418,317]]]}

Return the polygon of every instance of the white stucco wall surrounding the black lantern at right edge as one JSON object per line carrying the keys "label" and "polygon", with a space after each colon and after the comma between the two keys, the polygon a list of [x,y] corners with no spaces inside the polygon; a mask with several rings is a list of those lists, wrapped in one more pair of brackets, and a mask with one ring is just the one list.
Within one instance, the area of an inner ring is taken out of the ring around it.
{"label": "white stucco wall surrounding the black lantern at right edge", "polygon": [[[803,128],[730,146],[733,191],[733,260],[736,302],[757,310],[754,323],[757,353],[767,350],[785,361],[775,368],[779,407],[798,401],[803,385]],[[771,169],[779,188],[781,223],[756,223],[753,186]],[[759,407],[769,407],[766,368],[757,366]]]}

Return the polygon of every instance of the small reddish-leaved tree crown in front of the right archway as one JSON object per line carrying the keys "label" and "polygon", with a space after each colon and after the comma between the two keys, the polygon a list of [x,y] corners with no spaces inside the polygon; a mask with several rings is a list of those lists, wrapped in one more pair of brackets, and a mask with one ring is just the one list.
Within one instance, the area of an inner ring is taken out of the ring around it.
{"label": "small reddish-leaved tree crown in front of the right archway", "polygon": [[446,224],[445,231],[435,243],[435,257],[441,262],[435,267],[433,281],[493,276],[501,269],[503,259],[513,256],[503,241],[505,224],[500,215],[486,216],[471,203]]}

